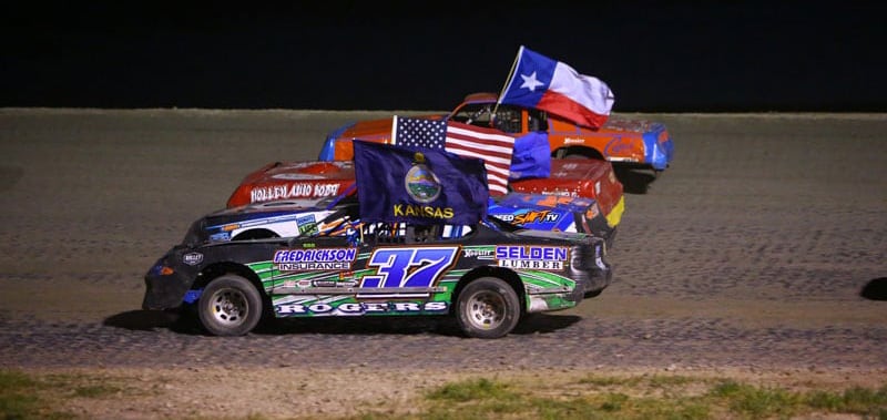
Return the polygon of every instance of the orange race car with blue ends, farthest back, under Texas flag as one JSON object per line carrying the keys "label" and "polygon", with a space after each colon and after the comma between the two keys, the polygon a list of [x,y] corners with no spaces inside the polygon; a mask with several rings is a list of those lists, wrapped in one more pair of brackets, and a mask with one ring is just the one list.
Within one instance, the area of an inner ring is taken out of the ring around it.
{"label": "orange race car with blue ends, farthest back, under Texas flag", "polygon": [[[548,135],[553,157],[602,158],[624,167],[649,168],[659,174],[669,167],[674,143],[665,125],[645,120],[610,115],[599,129],[577,125],[538,109],[499,104],[495,93],[475,93],[465,98],[449,114],[419,117],[496,127],[514,136],[532,132]],[[327,135],[320,161],[348,161],[351,141],[390,142],[392,119],[360,121],[343,125]]]}

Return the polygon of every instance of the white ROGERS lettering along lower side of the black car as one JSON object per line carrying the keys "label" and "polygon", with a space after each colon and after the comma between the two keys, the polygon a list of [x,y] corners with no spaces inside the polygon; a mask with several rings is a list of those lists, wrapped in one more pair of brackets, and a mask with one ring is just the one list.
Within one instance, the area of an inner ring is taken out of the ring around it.
{"label": "white ROGERS lettering along lower side of the black car", "polygon": [[408,314],[408,313],[445,313],[448,308],[446,301],[367,301],[345,304],[313,304],[313,305],[277,305],[275,309],[279,315],[360,315],[360,314]]}

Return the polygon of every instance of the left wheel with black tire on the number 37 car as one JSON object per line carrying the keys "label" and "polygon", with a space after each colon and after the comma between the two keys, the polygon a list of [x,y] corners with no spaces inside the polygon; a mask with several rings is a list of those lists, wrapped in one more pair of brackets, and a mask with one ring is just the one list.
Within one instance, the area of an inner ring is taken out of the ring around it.
{"label": "left wheel with black tire on the number 37 car", "polygon": [[243,336],[258,325],[262,314],[256,287],[231,274],[210,281],[197,303],[201,325],[214,336]]}

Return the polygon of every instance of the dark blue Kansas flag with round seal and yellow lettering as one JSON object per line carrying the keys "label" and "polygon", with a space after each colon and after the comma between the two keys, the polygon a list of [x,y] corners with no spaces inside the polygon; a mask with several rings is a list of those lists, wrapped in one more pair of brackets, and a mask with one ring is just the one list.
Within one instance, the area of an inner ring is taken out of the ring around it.
{"label": "dark blue Kansas flag with round seal and yellow lettering", "polygon": [[354,142],[364,222],[472,225],[487,217],[483,161],[442,150]]}

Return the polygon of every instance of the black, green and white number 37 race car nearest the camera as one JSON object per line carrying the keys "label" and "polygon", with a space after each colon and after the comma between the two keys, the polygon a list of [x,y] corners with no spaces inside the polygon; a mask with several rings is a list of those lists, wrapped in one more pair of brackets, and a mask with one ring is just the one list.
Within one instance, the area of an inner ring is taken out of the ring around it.
{"label": "black, green and white number 37 race car nearest the camera", "polygon": [[[315,199],[310,208],[284,203],[194,222],[146,273],[142,307],[193,307],[216,336],[245,335],[268,318],[418,315],[452,316],[468,337],[498,338],[526,314],[574,307],[612,277],[604,242],[593,235],[521,229],[495,217],[369,223],[347,197]],[[281,237],[218,235],[282,214],[312,217],[296,217],[295,231]]]}

